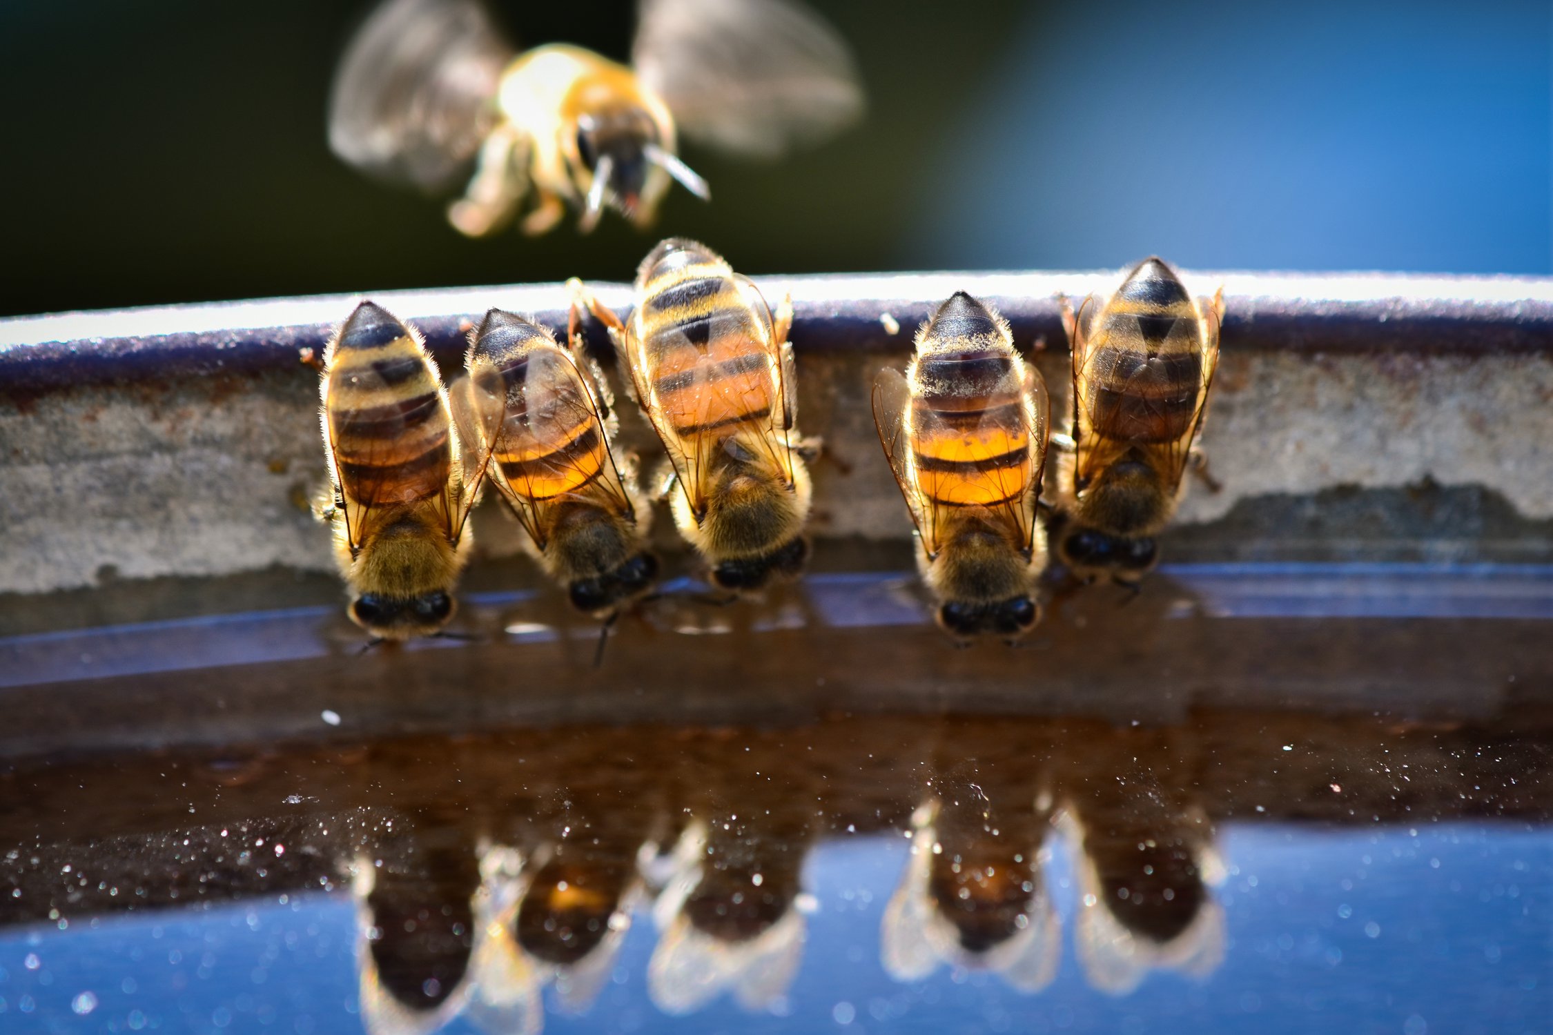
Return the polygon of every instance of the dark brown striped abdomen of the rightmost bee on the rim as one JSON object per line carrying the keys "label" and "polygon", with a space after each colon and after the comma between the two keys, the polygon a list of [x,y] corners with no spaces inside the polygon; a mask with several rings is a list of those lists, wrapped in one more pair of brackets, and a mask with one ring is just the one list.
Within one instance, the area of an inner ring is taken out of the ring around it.
{"label": "dark brown striped abdomen of the rightmost bee on the rim", "polygon": [[1101,438],[1176,442],[1202,402],[1202,323],[1191,296],[1159,259],[1138,265],[1087,329],[1079,374]]}

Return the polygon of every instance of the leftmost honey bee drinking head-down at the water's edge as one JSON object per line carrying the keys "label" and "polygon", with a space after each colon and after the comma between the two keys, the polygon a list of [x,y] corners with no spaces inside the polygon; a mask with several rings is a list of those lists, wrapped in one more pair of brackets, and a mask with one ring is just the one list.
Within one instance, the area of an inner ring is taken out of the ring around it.
{"label": "leftmost honey bee drinking head-down at the water's edge", "polygon": [[351,591],[351,621],[376,639],[438,633],[469,560],[464,520],[488,456],[453,427],[418,331],[362,303],[323,357],[321,517]]}

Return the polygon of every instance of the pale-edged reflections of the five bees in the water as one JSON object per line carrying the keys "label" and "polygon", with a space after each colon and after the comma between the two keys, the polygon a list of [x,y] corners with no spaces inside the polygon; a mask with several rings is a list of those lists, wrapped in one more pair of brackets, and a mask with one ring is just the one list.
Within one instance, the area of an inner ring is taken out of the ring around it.
{"label": "pale-edged reflections of the five bees in the water", "polygon": [[[691,819],[666,844],[620,832],[486,841],[441,878],[359,857],[351,888],[368,1032],[432,1032],[463,1016],[492,1033],[537,1033],[544,990],[567,1012],[587,1010],[641,917],[657,931],[646,984],[660,1010],[685,1015],[724,995],[747,1010],[780,1009],[820,903],[803,888],[801,846],[772,850],[741,827]],[[910,855],[879,922],[879,962],[895,981],[950,967],[1022,993],[1050,985],[1062,923],[1047,869],[1064,846],[1073,947],[1092,987],[1126,995],[1149,973],[1202,978],[1224,957],[1213,888],[1225,867],[1200,813],[1089,829],[1072,808],[1037,801],[994,824],[977,785],[961,784],[918,807],[907,835]]]}

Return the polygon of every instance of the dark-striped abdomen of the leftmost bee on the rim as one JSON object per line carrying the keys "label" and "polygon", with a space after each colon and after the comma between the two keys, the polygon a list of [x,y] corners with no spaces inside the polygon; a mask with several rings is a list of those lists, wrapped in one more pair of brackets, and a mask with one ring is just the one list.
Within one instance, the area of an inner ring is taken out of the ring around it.
{"label": "dark-striped abdomen of the leftmost bee on the rim", "polygon": [[436,368],[384,309],[362,303],[340,329],[323,407],[348,500],[391,506],[447,489],[452,450]]}

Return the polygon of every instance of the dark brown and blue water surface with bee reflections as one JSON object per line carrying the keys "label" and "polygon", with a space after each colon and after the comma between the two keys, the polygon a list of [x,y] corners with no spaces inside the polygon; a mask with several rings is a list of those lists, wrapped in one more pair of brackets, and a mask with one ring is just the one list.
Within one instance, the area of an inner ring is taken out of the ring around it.
{"label": "dark brown and blue water surface with bee reflections", "polygon": [[1183,565],[968,652],[831,571],[598,670],[544,594],[360,655],[297,585],[0,639],[0,1029],[1553,1027],[1545,569]]}

